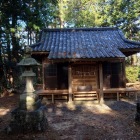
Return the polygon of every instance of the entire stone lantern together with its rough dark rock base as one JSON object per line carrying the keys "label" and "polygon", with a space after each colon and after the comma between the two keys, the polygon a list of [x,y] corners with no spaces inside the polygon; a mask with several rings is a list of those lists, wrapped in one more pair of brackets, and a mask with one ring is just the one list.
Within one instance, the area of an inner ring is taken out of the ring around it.
{"label": "entire stone lantern together with its rough dark rock base", "polygon": [[40,64],[31,58],[31,48],[26,47],[25,58],[18,63],[18,66],[25,69],[22,77],[25,78],[26,86],[20,95],[19,107],[11,112],[11,122],[6,129],[7,133],[45,131],[47,128],[45,107],[41,105],[41,100],[33,87],[33,78],[36,74],[32,68],[38,65]]}

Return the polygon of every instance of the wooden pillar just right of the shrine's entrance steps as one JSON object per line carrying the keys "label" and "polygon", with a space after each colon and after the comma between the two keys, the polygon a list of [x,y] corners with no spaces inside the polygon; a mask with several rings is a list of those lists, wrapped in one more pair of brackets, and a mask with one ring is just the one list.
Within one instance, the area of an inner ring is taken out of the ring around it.
{"label": "wooden pillar just right of the shrine's entrance steps", "polygon": [[100,103],[104,102],[104,94],[103,94],[103,67],[102,63],[99,64],[99,83],[100,83]]}

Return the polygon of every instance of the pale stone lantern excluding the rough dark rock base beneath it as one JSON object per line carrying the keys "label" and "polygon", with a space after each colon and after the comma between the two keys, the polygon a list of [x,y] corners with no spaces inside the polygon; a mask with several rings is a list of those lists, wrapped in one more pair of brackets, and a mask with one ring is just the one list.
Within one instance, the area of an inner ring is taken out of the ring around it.
{"label": "pale stone lantern excluding the rough dark rock base beneath it", "polygon": [[37,100],[37,95],[34,93],[35,90],[33,87],[33,78],[36,74],[33,72],[32,68],[38,65],[40,64],[37,63],[35,59],[31,58],[31,48],[26,47],[25,58],[18,63],[18,66],[25,69],[24,73],[22,73],[22,77],[26,79],[26,87],[24,93],[20,95],[20,108],[26,109],[27,111],[36,109],[35,102]]}

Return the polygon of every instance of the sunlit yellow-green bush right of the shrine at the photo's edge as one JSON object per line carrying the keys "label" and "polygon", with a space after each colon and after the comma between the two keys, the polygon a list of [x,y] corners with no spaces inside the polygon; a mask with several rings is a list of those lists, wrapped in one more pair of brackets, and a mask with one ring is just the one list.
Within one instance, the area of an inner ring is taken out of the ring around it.
{"label": "sunlit yellow-green bush right of the shrine at the photo's edge", "polygon": [[140,67],[138,66],[127,66],[126,67],[126,78],[128,82],[136,82],[139,79]]}

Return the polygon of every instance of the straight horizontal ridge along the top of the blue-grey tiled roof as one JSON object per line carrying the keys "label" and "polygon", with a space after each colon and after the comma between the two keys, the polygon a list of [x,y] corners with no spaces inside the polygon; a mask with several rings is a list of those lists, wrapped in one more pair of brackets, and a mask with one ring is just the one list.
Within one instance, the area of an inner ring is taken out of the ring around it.
{"label": "straight horizontal ridge along the top of the blue-grey tiled roof", "polygon": [[93,28],[44,28],[42,31],[54,32],[54,31],[106,31],[106,30],[118,30],[117,27],[93,27]]}

